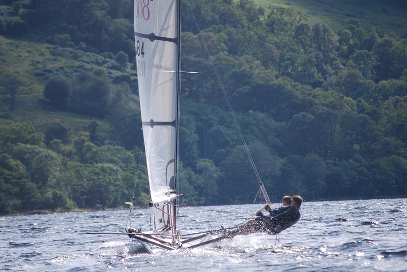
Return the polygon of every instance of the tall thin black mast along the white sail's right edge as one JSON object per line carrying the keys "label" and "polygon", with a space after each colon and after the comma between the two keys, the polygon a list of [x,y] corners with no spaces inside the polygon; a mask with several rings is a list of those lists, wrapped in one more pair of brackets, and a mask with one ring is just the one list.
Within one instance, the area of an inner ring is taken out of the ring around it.
{"label": "tall thin black mast along the white sail's right edge", "polygon": [[[177,105],[176,105],[176,143],[175,143],[175,169],[174,169],[174,189],[178,195],[178,144],[179,144],[179,124],[180,124],[180,66],[181,66],[181,0],[177,0]],[[178,197],[173,202],[173,222],[174,222],[174,231],[177,230],[177,206],[178,206]],[[174,233],[175,234],[175,233]]]}

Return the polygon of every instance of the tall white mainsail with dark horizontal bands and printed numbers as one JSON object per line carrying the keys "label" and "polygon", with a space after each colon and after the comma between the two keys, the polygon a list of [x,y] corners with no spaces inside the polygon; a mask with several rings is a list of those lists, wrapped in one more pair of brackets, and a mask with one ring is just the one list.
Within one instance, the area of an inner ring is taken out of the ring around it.
{"label": "tall white mainsail with dark horizontal bands and printed numbers", "polygon": [[175,231],[179,0],[135,0],[134,32],[153,229]]}

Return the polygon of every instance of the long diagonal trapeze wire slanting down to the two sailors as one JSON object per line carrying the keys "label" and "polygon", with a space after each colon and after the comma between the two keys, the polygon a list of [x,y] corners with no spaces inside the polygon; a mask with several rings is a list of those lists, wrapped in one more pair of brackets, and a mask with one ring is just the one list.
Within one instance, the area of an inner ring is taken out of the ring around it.
{"label": "long diagonal trapeze wire slanting down to the two sailors", "polygon": [[231,113],[231,115],[232,115],[232,117],[233,117],[233,119],[234,119],[234,121],[235,121],[235,125],[236,125],[236,128],[238,129],[240,139],[241,139],[242,142],[243,142],[243,146],[244,146],[244,148],[245,148],[245,150],[246,150],[247,156],[249,157],[250,164],[251,164],[251,166],[252,166],[252,168],[253,168],[254,174],[256,175],[257,182],[258,182],[258,184],[259,184],[259,186],[260,186],[261,193],[263,193],[263,196],[264,196],[264,198],[265,198],[267,204],[270,205],[270,204],[271,204],[271,201],[270,201],[270,199],[269,199],[269,196],[267,195],[266,188],[264,187],[264,184],[263,184],[263,182],[261,181],[261,178],[260,178],[260,174],[259,174],[258,171],[257,171],[256,165],[254,164],[254,160],[253,160],[253,158],[252,158],[252,156],[251,156],[249,147],[248,147],[248,145],[247,145],[247,143],[246,143],[246,140],[245,140],[245,138],[244,138],[244,136],[243,136],[242,130],[240,129],[238,119],[237,119],[237,117],[236,117],[236,115],[235,115],[234,110],[232,109],[232,106],[231,106],[230,101],[229,101],[229,99],[228,99],[228,97],[227,97],[227,94],[226,94],[226,89],[225,89],[225,87],[224,87],[224,85],[223,85],[223,83],[222,83],[222,80],[220,79],[218,70],[216,69],[215,63],[214,63],[214,61],[213,61],[213,57],[212,57],[211,53],[209,52],[209,49],[208,49],[208,46],[207,46],[205,40],[203,40],[203,37],[202,37],[202,34],[201,34],[201,29],[200,29],[200,27],[199,27],[199,25],[198,25],[198,21],[197,21],[196,18],[195,18],[195,15],[194,15],[194,13],[193,13],[192,8],[191,8],[190,5],[188,5],[188,7],[189,7],[189,9],[191,10],[191,14],[192,14],[192,17],[193,17],[193,19],[194,19],[194,21],[195,21],[195,25],[196,25],[196,27],[198,28],[198,34],[199,34],[199,37],[200,37],[200,39],[201,39],[201,41],[202,41],[202,43],[203,43],[203,47],[205,47],[205,51],[206,51],[207,54],[208,54],[209,60],[210,60],[211,65],[212,65],[212,68],[213,68],[213,70],[215,71],[216,78],[217,78],[218,83],[219,83],[219,86],[220,86],[220,88],[221,88],[221,90],[222,90],[223,96],[225,97],[227,107],[229,108],[229,111],[230,111],[230,113]]}

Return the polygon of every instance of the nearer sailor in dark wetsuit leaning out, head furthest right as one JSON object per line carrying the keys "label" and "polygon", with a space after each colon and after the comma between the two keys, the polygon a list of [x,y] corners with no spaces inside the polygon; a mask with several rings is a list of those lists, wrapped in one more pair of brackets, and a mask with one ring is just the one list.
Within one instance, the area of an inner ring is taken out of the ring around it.
{"label": "nearer sailor in dark wetsuit leaning out, head furthest right", "polygon": [[[269,234],[277,234],[286,228],[293,226],[301,218],[301,196],[293,196],[291,206],[284,207],[284,211],[275,217],[257,217],[254,220],[248,221],[245,225],[239,228],[241,234],[249,234],[253,232],[267,232]],[[283,207],[281,207],[283,208]]]}

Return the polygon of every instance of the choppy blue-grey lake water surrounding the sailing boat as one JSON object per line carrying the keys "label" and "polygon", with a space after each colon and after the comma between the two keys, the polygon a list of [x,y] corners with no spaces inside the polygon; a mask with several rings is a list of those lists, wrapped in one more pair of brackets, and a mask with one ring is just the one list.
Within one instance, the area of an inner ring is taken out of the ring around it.
{"label": "choppy blue-grey lake water surrounding the sailing boat", "polygon": [[[137,253],[123,232],[127,211],[0,218],[0,269],[28,271],[355,271],[407,270],[407,199],[305,202],[300,222],[276,236],[251,234],[213,248]],[[276,206],[276,205],[274,205]],[[179,225],[197,231],[232,226],[261,205],[181,208]],[[147,209],[132,225],[149,228]]]}

